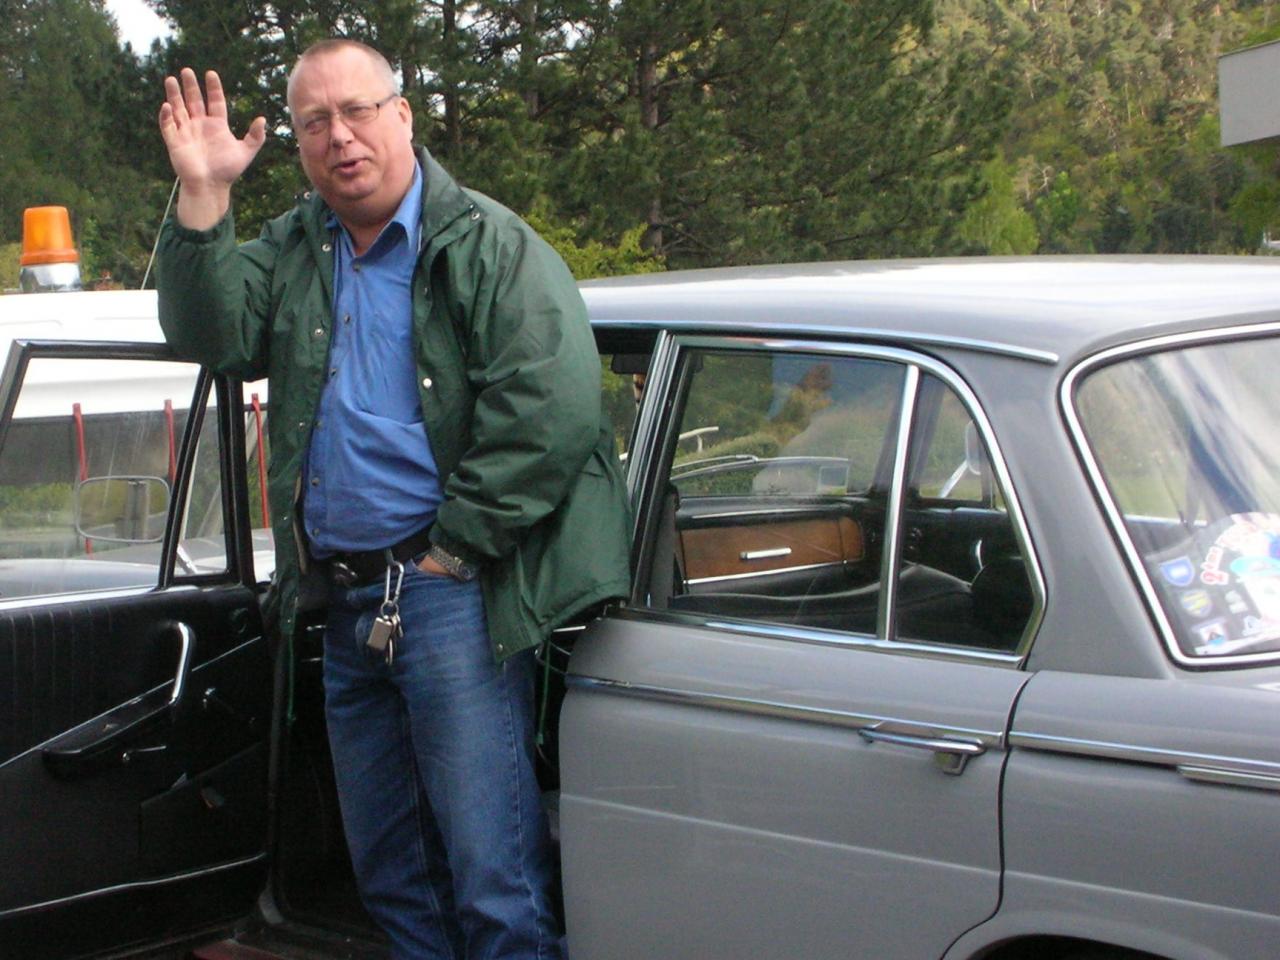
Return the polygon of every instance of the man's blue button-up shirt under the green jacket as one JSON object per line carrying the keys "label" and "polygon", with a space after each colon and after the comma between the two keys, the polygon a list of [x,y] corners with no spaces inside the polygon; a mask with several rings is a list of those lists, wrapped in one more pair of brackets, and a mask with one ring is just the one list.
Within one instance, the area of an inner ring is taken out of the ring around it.
{"label": "man's blue button-up shirt under the green jacket", "polygon": [[422,172],[378,239],[356,256],[335,230],[333,339],[307,465],[303,522],[311,552],[389,547],[435,520],[440,477],[419,404],[413,266]]}

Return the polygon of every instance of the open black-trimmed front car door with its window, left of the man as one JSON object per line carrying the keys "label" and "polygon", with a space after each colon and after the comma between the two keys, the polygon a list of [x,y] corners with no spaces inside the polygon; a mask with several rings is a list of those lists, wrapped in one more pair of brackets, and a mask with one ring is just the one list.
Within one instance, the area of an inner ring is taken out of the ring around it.
{"label": "open black-trimmed front car door with its window, left of the man", "polygon": [[0,410],[0,952],[242,914],[271,668],[239,387],[157,346],[15,343]]}

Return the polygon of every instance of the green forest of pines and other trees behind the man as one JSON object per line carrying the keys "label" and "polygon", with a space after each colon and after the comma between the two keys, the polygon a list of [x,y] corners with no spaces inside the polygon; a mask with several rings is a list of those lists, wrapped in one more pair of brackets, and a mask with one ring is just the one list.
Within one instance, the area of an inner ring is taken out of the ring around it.
{"label": "green forest of pines and other trees behind the man", "polygon": [[[1217,56],[1277,0],[0,0],[0,288],[23,207],[69,207],[86,278],[137,287],[173,184],[161,78],[215,68],[273,132],[237,188],[257,234],[305,183],[298,52],[383,50],[417,138],[580,278],[978,253],[1256,252],[1274,146],[1219,146]],[[1277,91],[1280,95],[1280,91]]]}

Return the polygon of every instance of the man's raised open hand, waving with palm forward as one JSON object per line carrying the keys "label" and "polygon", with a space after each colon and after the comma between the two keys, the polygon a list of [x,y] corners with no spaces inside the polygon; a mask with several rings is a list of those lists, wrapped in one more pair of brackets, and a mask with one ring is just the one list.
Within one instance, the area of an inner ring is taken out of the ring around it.
{"label": "man's raised open hand, waving with palm forward", "polygon": [[223,82],[214,70],[205,74],[205,96],[200,93],[196,73],[186,67],[177,79],[165,77],[164,90],[160,136],[182,182],[178,220],[205,229],[227,212],[232,184],[266,142],[266,119],[256,118],[243,140],[237,140],[227,123]]}

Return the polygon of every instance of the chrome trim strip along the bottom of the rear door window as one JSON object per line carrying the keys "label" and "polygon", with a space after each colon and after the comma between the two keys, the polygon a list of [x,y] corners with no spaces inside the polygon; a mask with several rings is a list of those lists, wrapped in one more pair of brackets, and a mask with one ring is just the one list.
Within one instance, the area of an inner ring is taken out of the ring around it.
{"label": "chrome trim strip along the bottom of the rear door window", "polygon": [[927,644],[918,640],[884,640],[868,634],[849,634],[820,627],[797,627],[768,621],[728,620],[708,617],[691,611],[658,611],[648,607],[622,607],[609,613],[611,618],[636,620],[655,623],[675,623],[685,627],[709,627],[727,634],[764,640],[783,640],[786,643],[813,644],[815,646],[841,646],[872,653],[893,653],[908,657],[928,657],[931,659],[955,660],[957,663],[980,663],[995,667],[1020,667],[1023,654],[982,650],[977,646],[947,646]]}

